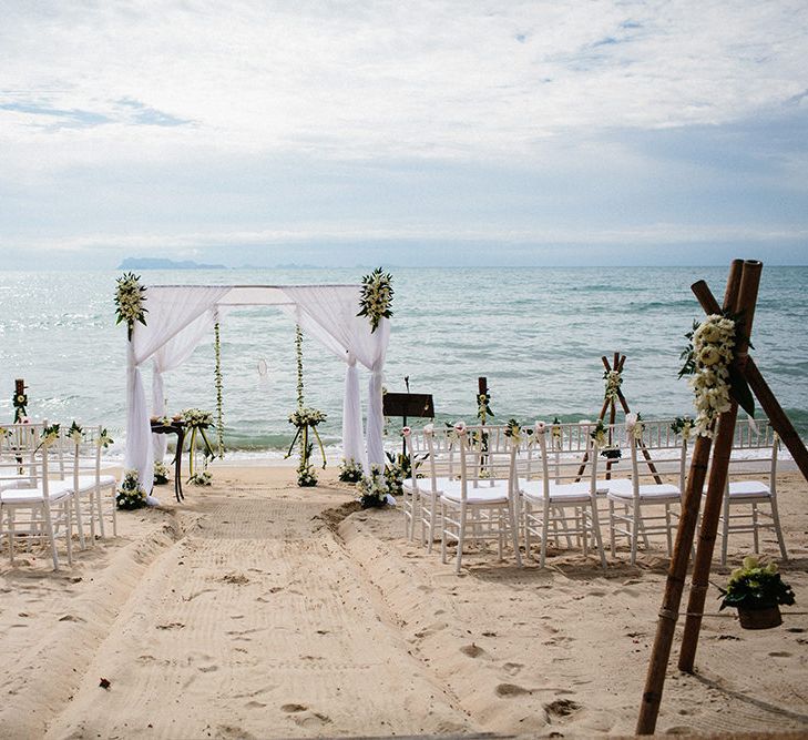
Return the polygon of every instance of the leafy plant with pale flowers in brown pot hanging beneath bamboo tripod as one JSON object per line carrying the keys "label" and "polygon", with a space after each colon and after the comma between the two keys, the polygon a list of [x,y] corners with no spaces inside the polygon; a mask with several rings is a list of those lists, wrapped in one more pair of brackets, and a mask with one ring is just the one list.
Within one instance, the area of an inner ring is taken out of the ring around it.
{"label": "leafy plant with pale flowers in brown pot hanging beneath bamboo tripod", "polygon": [[756,557],[744,558],[744,567],[734,570],[722,592],[722,605],[738,610],[744,629],[767,629],[783,624],[780,605],[794,604],[794,590],[784,584],[774,562],[763,565]]}

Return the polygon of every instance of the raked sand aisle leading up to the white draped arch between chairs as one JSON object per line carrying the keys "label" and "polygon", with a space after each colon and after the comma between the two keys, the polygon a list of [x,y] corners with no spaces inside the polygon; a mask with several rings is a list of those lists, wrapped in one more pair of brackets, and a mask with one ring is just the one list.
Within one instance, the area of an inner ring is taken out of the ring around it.
{"label": "raked sand aisle leading up to the white draped arch between chairs", "polygon": [[208,506],[150,567],[49,737],[473,730],[323,526],[329,499],[311,498]]}

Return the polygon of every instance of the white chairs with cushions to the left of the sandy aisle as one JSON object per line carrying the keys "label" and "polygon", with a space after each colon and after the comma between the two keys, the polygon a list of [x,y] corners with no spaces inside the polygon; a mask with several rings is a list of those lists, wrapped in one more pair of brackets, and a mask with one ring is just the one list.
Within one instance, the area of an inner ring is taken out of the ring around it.
{"label": "white chairs with cushions to the left of the sandy aisle", "polygon": [[105,520],[117,535],[116,480],[101,467],[105,444],[101,427],[0,427],[0,546],[12,564],[18,546],[45,545],[58,570],[59,539],[72,562],[74,534],[82,549],[106,536]]}

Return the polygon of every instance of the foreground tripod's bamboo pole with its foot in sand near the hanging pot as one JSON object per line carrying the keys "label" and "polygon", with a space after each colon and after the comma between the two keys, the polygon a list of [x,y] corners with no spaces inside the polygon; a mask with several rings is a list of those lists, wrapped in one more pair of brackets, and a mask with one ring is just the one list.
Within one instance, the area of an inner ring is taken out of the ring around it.
{"label": "foreground tripod's bamboo pole with its foot in sand near the hanging pot", "polygon": [[[737,268],[736,263],[733,263],[733,270],[737,271]],[[735,363],[739,367],[744,366],[748,356],[749,335],[751,334],[751,325],[755,318],[755,305],[757,303],[757,291],[760,283],[761,270],[761,263],[751,261],[743,263],[740,267],[740,286],[732,308],[734,314],[743,316],[743,327],[739,327],[743,331],[736,334],[735,345]],[[709,571],[713,566],[713,551],[715,549],[718,520],[720,518],[727,485],[727,469],[735,440],[735,423],[737,416],[738,404],[733,401],[729,409],[720,415],[718,430],[715,437],[713,465],[709,470],[707,496],[704,500],[704,510],[702,511],[702,526],[698,534],[696,558],[693,562],[685,631],[682,637],[679,651],[679,670],[688,673],[693,672],[696,649],[698,648],[704,601],[707,598],[707,588],[709,587]]]}

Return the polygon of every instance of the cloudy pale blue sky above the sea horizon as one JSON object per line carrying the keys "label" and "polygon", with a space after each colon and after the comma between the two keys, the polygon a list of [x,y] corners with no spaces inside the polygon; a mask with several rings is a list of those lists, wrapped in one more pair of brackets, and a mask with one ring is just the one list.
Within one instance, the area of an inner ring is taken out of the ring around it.
{"label": "cloudy pale blue sky above the sea horizon", "polygon": [[0,268],[808,264],[805,0],[0,18]]}

